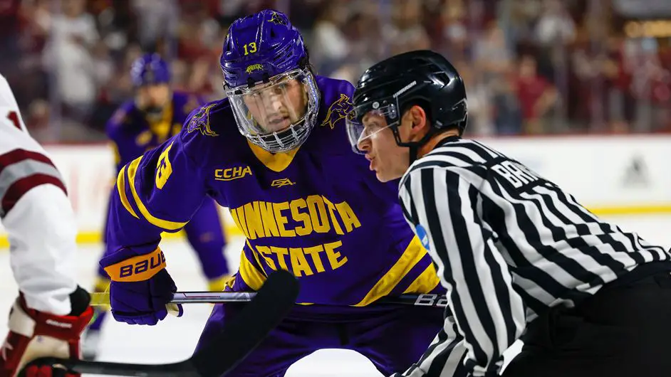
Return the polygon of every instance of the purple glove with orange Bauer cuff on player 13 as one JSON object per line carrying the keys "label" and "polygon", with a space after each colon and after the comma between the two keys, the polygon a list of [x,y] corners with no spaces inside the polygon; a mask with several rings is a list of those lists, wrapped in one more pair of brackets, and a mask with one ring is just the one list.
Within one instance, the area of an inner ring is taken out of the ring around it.
{"label": "purple glove with orange Bauer cuff on player 13", "polygon": [[[128,324],[155,325],[165,318],[165,304],[177,292],[175,282],[165,270],[165,256],[160,248],[138,255],[132,249],[121,249],[103,257],[100,265],[110,276],[112,316]],[[183,314],[177,305],[177,317]]]}

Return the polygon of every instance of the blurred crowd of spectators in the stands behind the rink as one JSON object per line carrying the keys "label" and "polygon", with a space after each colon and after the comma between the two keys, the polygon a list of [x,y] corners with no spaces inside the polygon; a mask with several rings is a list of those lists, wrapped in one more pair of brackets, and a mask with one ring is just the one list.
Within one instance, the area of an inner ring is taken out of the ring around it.
{"label": "blurred crowd of spectators in the stands behind the rink", "polygon": [[355,83],[432,48],[467,85],[470,135],[671,130],[671,38],[630,38],[612,0],[0,0],[0,72],[43,142],[104,139],[130,63],[170,60],[177,90],[222,97],[227,28],[285,11],[319,75]]}

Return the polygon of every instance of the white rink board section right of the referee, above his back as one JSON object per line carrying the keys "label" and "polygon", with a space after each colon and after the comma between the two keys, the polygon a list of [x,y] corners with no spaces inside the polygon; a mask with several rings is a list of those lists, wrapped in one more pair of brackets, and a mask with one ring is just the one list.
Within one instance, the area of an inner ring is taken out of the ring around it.
{"label": "white rink board section right of the referee, above his back", "polygon": [[671,205],[671,136],[483,139],[558,184],[583,205]]}

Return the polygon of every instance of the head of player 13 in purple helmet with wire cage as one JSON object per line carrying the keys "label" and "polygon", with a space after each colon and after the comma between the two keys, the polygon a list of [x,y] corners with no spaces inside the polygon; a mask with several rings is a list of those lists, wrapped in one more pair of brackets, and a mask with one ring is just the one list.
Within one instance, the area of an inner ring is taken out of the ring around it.
{"label": "head of player 13 in purple helmet with wire cage", "polygon": [[269,152],[286,152],[308,138],[319,90],[303,37],[285,14],[264,10],[238,18],[224,41],[224,89],[238,129]]}

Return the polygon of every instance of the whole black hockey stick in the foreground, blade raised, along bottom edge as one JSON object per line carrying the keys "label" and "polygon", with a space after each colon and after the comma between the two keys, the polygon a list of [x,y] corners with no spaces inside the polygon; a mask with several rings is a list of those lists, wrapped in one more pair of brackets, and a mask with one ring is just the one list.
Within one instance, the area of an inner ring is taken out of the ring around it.
{"label": "whole black hockey stick in the foreground, blade raised, along bottom edge", "polygon": [[147,365],[41,358],[29,365],[60,366],[78,373],[117,376],[222,376],[237,366],[281,322],[293,307],[296,297],[296,278],[286,271],[272,273],[254,299],[232,321],[224,325],[216,339],[190,359],[178,363]]}

